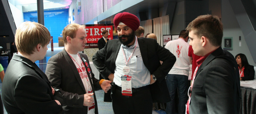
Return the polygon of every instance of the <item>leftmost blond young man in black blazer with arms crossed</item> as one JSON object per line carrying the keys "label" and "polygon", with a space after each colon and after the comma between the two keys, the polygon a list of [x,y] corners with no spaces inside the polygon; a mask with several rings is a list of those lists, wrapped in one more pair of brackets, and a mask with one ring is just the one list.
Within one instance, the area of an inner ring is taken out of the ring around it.
{"label": "leftmost blond young man in black blazer with arms crossed", "polygon": [[34,63],[42,60],[48,50],[50,32],[36,22],[23,22],[16,30],[14,53],[7,67],[2,95],[10,114],[60,114],[63,100],[46,75]]}

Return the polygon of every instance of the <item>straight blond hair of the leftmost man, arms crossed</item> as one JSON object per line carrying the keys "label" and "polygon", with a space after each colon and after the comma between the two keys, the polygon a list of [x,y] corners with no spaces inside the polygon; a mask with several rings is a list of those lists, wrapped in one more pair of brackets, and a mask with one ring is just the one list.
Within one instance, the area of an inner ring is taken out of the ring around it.
{"label": "straight blond hair of the leftmost man, arms crossed", "polygon": [[21,53],[33,54],[37,44],[46,46],[50,42],[50,32],[37,22],[26,21],[21,23],[15,33],[15,44]]}

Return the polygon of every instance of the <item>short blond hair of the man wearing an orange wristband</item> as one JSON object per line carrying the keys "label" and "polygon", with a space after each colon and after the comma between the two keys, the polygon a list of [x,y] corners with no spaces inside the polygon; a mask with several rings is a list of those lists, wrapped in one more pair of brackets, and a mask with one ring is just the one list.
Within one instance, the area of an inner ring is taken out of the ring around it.
{"label": "short blond hair of the man wearing an orange wristband", "polygon": [[85,28],[85,25],[80,25],[76,23],[71,23],[67,25],[62,31],[64,43],[67,44],[68,42],[67,36],[70,36],[71,38],[75,38],[76,31],[81,27]]}

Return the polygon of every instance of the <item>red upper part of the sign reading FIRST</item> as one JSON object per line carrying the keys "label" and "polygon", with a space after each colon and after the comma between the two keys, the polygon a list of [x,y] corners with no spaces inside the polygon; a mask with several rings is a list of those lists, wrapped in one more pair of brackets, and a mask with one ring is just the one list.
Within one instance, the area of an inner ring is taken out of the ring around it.
{"label": "red upper part of the sign reading FIRST", "polygon": [[86,41],[85,48],[98,48],[98,40],[102,37],[102,31],[108,31],[108,39],[113,39],[113,25],[90,24],[85,25]]}

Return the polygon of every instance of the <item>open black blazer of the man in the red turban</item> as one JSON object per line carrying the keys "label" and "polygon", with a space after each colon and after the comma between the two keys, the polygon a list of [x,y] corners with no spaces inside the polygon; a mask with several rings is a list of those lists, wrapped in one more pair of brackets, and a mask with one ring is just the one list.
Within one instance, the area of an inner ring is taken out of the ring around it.
{"label": "open black blazer of the man in the red turban", "polygon": [[[138,38],[138,43],[143,63],[150,74],[154,74],[157,78],[157,81],[150,85],[153,102],[169,102],[170,96],[165,76],[176,62],[176,57],[169,50],[161,47],[155,39]],[[109,74],[115,73],[115,62],[120,46],[119,39],[110,40],[92,58],[95,67],[105,79]],[[162,65],[160,61],[163,61]]]}

